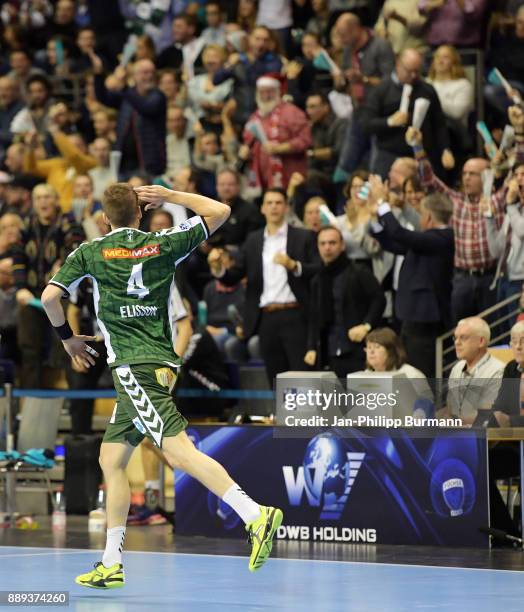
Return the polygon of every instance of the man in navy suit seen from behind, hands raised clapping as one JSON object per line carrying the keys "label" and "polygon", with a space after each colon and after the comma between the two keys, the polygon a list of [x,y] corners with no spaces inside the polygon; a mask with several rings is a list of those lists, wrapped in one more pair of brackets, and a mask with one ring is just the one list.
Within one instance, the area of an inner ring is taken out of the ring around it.
{"label": "man in navy suit seen from behind, hands raised clapping", "polygon": [[401,336],[408,362],[428,378],[435,376],[435,340],[451,327],[451,278],[455,251],[451,200],[434,193],[422,200],[422,231],[400,225],[387,203],[387,188],[372,177],[369,208],[373,236],[382,248],[404,255],[395,313],[402,322]]}

